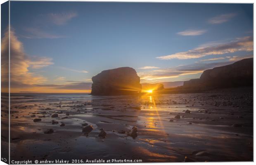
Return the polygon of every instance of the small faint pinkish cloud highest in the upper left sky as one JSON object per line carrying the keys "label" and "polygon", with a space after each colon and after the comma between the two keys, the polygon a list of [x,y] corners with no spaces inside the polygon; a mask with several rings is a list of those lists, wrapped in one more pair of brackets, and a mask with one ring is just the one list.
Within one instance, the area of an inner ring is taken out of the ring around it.
{"label": "small faint pinkish cloud highest in the upper left sky", "polygon": [[76,12],[67,12],[67,13],[49,13],[41,14],[42,19],[52,22],[55,25],[64,25],[72,18],[76,17],[78,14]]}

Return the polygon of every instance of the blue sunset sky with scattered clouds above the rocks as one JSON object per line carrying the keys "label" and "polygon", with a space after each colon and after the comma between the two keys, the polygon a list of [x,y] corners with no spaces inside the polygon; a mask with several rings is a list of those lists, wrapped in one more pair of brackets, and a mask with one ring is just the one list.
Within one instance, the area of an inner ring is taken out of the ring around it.
{"label": "blue sunset sky with scattered clouds above the rocks", "polygon": [[253,57],[252,4],[11,1],[10,18],[11,92],[90,92],[123,66],[184,81]]}

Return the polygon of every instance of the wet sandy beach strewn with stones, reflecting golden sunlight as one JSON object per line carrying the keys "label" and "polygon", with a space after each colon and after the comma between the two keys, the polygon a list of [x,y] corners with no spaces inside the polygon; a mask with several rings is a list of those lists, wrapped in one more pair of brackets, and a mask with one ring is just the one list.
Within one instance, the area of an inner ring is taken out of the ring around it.
{"label": "wet sandy beach strewn with stones, reflecting golden sunlight", "polygon": [[[11,99],[11,160],[253,161],[252,88],[71,100],[23,95]],[[89,134],[84,123],[94,128]],[[133,127],[137,137],[128,135]]]}

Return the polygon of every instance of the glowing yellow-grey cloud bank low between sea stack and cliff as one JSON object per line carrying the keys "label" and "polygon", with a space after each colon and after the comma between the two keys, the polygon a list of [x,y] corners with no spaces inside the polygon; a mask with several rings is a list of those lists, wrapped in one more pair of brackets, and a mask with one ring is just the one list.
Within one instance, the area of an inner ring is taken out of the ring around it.
{"label": "glowing yellow-grey cloud bank low between sea stack and cliff", "polygon": [[218,67],[218,66],[224,66],[228,64],[232,64],[232,61],[226,61],[226,62],[215,62],[215,63],[196,63],[196,64],[189,64],[189,65],[180,65],[173,68],[165,68],[160,70],[154,70],[151,72],[144,72],[144,73],[138,73],[140,76],[140,80],[142,82],[156,82],[162,79],[168,79],[168,78],[178,78],[182,75],[193,75],[202,73],[206,69]]}

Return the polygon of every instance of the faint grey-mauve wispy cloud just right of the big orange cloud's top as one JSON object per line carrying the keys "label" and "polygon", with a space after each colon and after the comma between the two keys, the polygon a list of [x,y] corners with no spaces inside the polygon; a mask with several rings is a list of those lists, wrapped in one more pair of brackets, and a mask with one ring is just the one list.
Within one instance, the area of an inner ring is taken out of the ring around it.
{"label": "faint grey-mauve wispy cloud just right of the big orange cloud's top", "polygon": [[45,31],[42,31],[38,28],[26,28],[25,31],[27,32],[26,35],[22,35],[24,38],[28,39],[41,39],[41,38],[48,38],[48,39],[56,39],[56,38],[65,38],[65,36],[62,35],[55,35],[51,33],[47,33]]}

